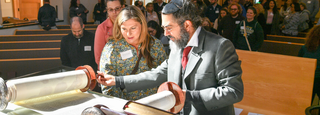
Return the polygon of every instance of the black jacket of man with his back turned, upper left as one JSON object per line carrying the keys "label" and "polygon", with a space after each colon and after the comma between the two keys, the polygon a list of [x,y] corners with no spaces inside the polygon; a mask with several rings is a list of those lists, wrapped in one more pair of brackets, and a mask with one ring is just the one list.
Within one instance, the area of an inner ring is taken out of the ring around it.
{"label": "black jacket of man with his back turned, upper left", "polygon": [[57,12],[53,6],[50,4],[44,4],[41,8],[39,8],[38,12],[38,21],[39,24],[43,27],[49,25],[49,27],[56,26],[56,17]]}

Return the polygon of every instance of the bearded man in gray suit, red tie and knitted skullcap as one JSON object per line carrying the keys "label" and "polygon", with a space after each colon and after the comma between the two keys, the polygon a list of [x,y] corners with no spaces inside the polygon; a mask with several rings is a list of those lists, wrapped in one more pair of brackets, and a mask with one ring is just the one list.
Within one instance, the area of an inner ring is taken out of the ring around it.
{"label": "bearded man in gray suit, red tie and knitted skullcap", "polygon": [[98,72],[104,75],[98,82],[132,92],[172,81],[185,94],[180,114],[234,115],[233,104],[244,94],[241,61],[231,41],[200,25],[199,12],[190,0],[172,0],[162,10],[164,34],[171,39],[169,59],[137,75],[114,77]]}

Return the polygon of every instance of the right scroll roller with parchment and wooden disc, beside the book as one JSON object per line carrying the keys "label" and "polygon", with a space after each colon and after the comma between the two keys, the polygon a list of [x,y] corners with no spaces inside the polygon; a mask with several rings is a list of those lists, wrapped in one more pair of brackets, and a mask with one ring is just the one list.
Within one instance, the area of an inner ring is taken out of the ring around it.
{"label": "right scroll roller with parchment and wooden disc, beside the book", "polygon": [[[173,82],[165,82],[158,88],[157,94],[142,98],[137,101],[128,101],[123,110],[128,115],[176,115],[182,110],[185,97],[181,88]],[[167,110],[167,111],[165,111]],[[100,114],[102,111],[103,114]],[[105,106],[96,105],[95,108],[85,109],[81,115],[109,115],[111,113]],[[123,113],[113,113],[122,115]],[[113,115],[112,114],[112,115]]]}

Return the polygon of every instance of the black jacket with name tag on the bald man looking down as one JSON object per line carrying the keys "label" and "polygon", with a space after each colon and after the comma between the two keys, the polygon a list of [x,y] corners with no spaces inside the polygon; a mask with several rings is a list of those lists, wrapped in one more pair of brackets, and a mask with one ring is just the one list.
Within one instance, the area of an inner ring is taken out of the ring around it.
{"label": "black jacket with name tag on the bald man looking down", "polygon": [[60,47],[62,65],[73,68],[89,65],[96,71],[98,65],[94,59],[94,36],[95,34],[87,30],[83,31],[80,41],[72,33],[64,36]]}

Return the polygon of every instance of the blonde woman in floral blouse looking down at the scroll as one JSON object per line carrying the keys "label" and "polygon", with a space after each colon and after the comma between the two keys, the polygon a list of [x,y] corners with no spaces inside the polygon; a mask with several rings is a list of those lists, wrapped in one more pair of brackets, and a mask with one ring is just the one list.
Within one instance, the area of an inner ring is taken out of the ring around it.
{"label": "blonde woman in floral blouse looking down at the scroll", "polygon": [[[146,19],[137,6],[125,7],[114,24],[112,36],[101,54],[99,74],[139,74],[150,71],[167,59],[162,43],[148,34]],[[102,86],[103,94],[133,101],[156,94],[157,89],[127,92],[116,86]]]}

